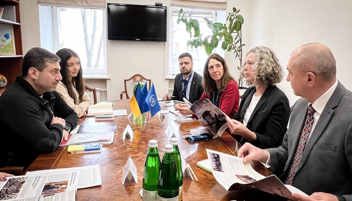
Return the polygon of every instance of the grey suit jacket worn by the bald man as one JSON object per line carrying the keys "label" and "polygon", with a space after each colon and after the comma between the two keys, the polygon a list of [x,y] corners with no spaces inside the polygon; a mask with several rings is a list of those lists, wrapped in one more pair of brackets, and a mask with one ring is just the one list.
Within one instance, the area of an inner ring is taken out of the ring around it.
{"label": "grey suit jacket worn by the bald man", "polygon": [[[325,192],[352,201],[352,93],[340,82],[311,132],[292,185],[310,195]],[[308,110],[308,101],[293,106],[283,145],[267,149],[270,170],[285,180]]]}

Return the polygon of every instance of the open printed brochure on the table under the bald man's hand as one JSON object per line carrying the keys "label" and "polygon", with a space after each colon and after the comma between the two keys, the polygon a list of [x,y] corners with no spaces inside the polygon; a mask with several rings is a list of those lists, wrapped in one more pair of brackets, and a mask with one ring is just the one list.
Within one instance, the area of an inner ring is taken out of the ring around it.
{"label": "open printed brochure on the table under the bald man's hand", "polygon": [[308,196],[296,187],[285,185],[275,175],[264,177],[250,163],[243,164],[240,157],[206,149],[214,178],[226,190],[256,188],[258,190],[294,200],[292,193]]}

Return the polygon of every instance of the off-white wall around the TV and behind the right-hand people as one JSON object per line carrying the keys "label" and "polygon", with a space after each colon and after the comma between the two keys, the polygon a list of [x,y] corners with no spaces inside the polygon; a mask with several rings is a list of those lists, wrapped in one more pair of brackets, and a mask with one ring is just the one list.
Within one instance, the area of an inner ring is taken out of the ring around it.
{"label": "off-white wall around the TV and behind the right-hand people", "polygon": [[[292,50],[309,42],[320,42],[330,47],[336,58],[337,78],[347,89],[352,90],[350,53],[352,52],[352,1],[350,0],[227,0],[227,13],[232,7],[241,9],[244,18],[242,41],[244,55],[251,47],[264,45],[274,50],[281,65],[286,68]],[[111,0],[109,2],[117,2]],[[154,4],[152,0],[118,0],[120,3]],[[168,6],[169,0],[159,0]],[[40,46],[39,9],[37,0],[20,1],[23,53],[33,46]],[[170,24],[168,24],[168,27]],[[108,100],[119,99],[123,79],[140,73],[152,79],[156,93],[161,96],[168,90],[164,79],[168,69],[169,43],[107,42],[108,75],[106,82]],[[225,59],[231,74],[238,78],[238,60],[232,53]],[[245,59],[245,58],[243,58]],[[100,84],[99,84],[100,83]],[[89,81],[88,81],[89,84]],[[92,82],[105,86],[105,80]],[[102,86],[102,87],[101,87]],[[293,95],[289,82],[279,87],[285,91],[290,105],[298,97]]]}

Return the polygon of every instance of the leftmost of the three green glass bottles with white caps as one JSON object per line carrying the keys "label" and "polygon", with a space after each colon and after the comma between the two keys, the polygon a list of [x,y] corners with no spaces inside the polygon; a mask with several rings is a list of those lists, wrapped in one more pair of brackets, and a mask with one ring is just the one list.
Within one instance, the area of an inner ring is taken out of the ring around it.
{"label": "leftmost of the three green glass bottles with white caps", "polygon": [[160,156],[157,141],[149,140],[149,150],[144,165],[143,201],[157,201],[158,180],[160,174]]}

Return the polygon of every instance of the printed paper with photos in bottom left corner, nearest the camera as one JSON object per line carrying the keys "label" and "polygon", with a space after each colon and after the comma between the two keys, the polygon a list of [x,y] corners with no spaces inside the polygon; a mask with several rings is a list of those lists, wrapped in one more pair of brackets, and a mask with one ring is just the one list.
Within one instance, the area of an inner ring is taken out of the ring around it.
{"label": "printed paper with photos in bottom left corner, nearest the camera", "polygon": [[0,200],[52,196],[56,193],[77,191],[79,172],[51,175],[7,177],[0,181]]}

